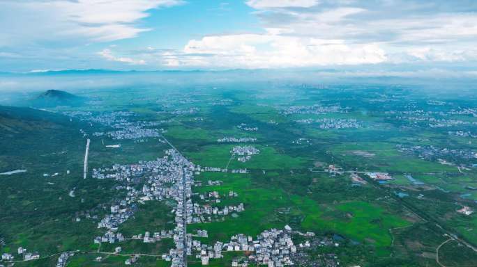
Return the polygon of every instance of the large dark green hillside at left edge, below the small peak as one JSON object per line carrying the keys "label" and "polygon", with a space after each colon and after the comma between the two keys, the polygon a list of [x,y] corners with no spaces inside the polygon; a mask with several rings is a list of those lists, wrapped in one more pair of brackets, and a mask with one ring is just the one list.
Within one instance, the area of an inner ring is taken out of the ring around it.
{"label": "large dark green hillside at left edge, below the small peak", "polygon": [[0,106],[0,172],[57,163],[58,153],[82,151],[82,122],[34,108]]}

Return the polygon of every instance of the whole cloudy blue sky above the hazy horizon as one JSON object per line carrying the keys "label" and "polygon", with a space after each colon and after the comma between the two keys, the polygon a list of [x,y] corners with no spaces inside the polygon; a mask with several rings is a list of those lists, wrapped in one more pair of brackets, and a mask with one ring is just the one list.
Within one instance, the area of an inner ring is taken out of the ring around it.
{"label": "whole cloudy blue sky above the hazy horizon", "polygon": [[475,0],[0,0],[0,72],[475,66]]}

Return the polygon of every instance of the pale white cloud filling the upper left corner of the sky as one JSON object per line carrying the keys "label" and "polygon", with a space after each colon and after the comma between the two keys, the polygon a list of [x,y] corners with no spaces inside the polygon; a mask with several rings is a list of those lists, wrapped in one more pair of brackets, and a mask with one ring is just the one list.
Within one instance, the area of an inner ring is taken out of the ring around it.
{"label": "pale white cloud filling the upper left corner of the sky", "polygon": [[137,26],[148,10],[182,0],[0,1],[0,46],[38,42],[104,42],[149,31]]}

